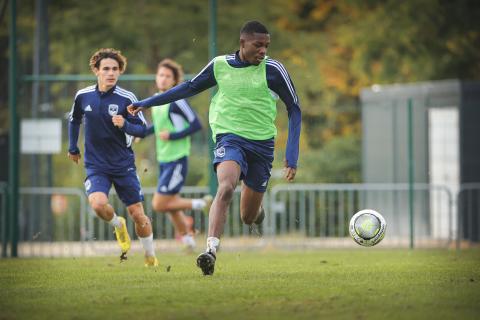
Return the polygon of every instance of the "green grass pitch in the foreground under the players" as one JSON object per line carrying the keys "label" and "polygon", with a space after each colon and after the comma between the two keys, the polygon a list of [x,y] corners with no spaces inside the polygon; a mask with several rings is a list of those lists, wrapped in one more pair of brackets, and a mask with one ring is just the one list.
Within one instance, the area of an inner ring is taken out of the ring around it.
{"label": "green grass pitch in the foreground under the players", "polygon": [[[0,260],[0,319],[479,319],[480,250]],[[167,269],[169,271],[167,272]]]}

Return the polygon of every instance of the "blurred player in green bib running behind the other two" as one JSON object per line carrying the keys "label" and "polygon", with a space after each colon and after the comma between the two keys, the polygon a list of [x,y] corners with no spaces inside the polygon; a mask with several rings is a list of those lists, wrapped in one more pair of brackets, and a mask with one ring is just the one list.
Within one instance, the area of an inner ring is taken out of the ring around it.
{"label": "blurred player in green bib running behind the other two", "polygon": [[[175,61],[165,59],[157,67],[156,85],[159,93],[183,81],[182,67]],[[185,184],[190,155],[190,136],[202,129],[202,125],[184,99],[152,107],[153,126],[148,134],[155,132],[159,177],[157,192],[152,199],[156,212],[168,212],[175,230],[189,250],[195,248],[195,239],[188,230],[183,210],[208,210],[212,203],[210,195],[202,199],[187,199],[179,193]]]}

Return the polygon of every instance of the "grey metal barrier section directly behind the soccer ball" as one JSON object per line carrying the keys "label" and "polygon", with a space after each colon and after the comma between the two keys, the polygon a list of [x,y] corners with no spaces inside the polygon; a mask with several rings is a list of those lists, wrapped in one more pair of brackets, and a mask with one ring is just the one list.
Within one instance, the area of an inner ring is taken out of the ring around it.
{"label": "grey metal barrier section directly behind the soccer ball", "polygon": [[386,242],[408,245],[414,239],[416,245],[448,245],[456,230],[450,190],[415,184],[412,211],[409,191],[408,184],[279,185],[270,192],[269,231],[307,237],[348,237],[353,214],[370,208],[381,212],[387,220]]}

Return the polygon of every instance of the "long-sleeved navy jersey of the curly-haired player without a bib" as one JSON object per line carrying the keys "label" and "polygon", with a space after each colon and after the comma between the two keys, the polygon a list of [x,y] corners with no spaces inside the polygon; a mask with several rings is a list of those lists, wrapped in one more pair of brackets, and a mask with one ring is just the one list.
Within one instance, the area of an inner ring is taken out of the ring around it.
{"label": "long-sleeved navy jersey of the curly-haired player without a bib", "polygon": [[[143,114],[132,116],[127,112],[127,107],[136,101],[132,92],[119,86],[114,86],[107,92],[100,92],[97,85],[79,90],[69,117],[68,152],[80,152],[77,141],[80,124],[85,119],[85,167],[111,174],[134,168],[132,136],[144,137],[147,130]],[[113,125],[114,115],[125,118],[123,128]]]}

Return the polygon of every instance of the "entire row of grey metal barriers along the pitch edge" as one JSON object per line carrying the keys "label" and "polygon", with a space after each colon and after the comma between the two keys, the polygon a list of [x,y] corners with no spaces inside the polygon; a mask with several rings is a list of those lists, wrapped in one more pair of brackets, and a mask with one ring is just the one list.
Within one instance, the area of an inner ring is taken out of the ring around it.
{"label": "entire row of grey metal barriers along the pitch edge", "polygon": [[[0,185],[0,239],[2,256],[8,246],[6,185]],[[225,237],[258,237],[272,239],[295,237],[311,242],[329,240],[329,245],[349,241],[348,223],[353,214],[365,208],[382,213],[388,223],[382,245],[408,247],[457,247],[462,240],[479,241],[478,217],[480,184],[462,186],[453,193],[446,186],[415,184],[413,193],[407,184],[287,184],[274,186],[266,193],[267,218],[260,228],[251,228],[240,219],[240,188],[234,194],[225,224]],[[145,211],[152,220],[156,239],[174,239],[175,231],[168,216],[154,213],[151,199],[155,188],[144,188]],[[185,187],[182,195],[200,198],[207,187]],[[412,194],[413,201],[409,201]],[[111,226],[98,219],[88,206],[83,189],[21,188],[19,210],[19,255],[81,256],[111,252],[115,248]],[[126,208],[110,195],[117,214],[127,216]],[[413,207],[409,208],[409,203]],[[208,217],[201,211],[188,211],[193,226],[202,236],[208,228]],[[134,224],[127,219],[134,235]],[[455,242],[456,241],[456,242]]]}

